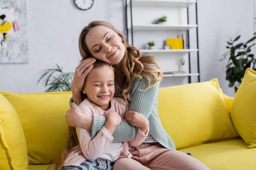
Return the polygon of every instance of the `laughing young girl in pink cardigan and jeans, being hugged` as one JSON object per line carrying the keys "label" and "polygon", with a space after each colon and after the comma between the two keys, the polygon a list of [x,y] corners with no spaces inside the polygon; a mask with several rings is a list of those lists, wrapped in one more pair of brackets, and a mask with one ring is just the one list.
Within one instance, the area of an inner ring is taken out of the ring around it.
{"label": "laughing young girl in pink cardigan and jeans, being hugged", "polygon": [[130,142],[112,142],[112,133],[124,119],[128,105],[122,98],[113,97],[114,70],[106,62],[99,60],[93,64],[93,69],[87,75],[81,91],[84,100],[78,106],[81,109],[80,113],[90,116],[104,115],[107,121],[93,139],[89,130],[69,127],[67,148],[61,160],[54,164],[55,169],[94,170],[97,167],[98,170],[112,170],[112,163],[119,157],[132,156],[128,151],[129,144],[137,147],[144,141],[148,134],[148,119],[139,113],[134,113],[138,115],[134,119],[134,125],[140,127],[136,138]]}

